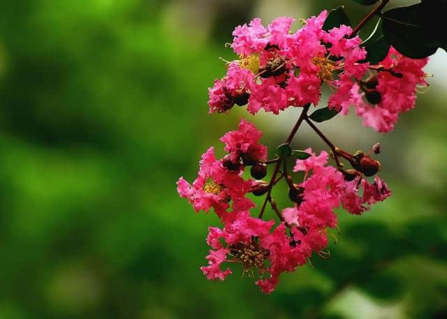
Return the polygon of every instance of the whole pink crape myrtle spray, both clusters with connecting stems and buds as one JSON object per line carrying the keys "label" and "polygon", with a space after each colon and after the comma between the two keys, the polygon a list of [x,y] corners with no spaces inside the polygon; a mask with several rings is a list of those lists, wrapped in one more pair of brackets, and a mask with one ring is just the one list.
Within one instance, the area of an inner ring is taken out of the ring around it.
{"label": "whole pink crape myrtle spray, both clusters with connecting stems and buds", "polygon": [[[410,59],[390,47],[386,58],[372,65],[356,36],[361,28],[341,24],[325,29],[327,17],[327,11],[310,17],[298,31],[291,31],[291,17],[278,17],[266,27],[255,18],[233,31],[230,46],[238,58],[226,61],[226,75],[208,89],[209,112],[228,113],[234,105],[247,105],[251,114],[279,114],[291,106],[300,107],[301,114],[274,158],[268,158],[268,148],[261,143],[262,132],[240,119],[235,131],[220,139],[222,158],[216,158],[210,147],[193,183],[183,177],[177,181],[180,197],[196,212],[212,210],[221,222],[208,228],[210,251],[207,265],[200,267],[207,279],[223,281],[240,264],[243,275],[270,293],[284,272],[294,272],[311,258],[329,257],[329,239],[337,237],[334,229],[339,230],[336,209],[360,216],[391,195],[377,176],[379,143],[367,153],[351,154],[332,143],[314,122],[347,114],[353,106],[365,126],[381,133],[393,130],[399,114],[413,107],[417,86],[426,84],[427,59]],[[323,85],[331,91],[328,107],[314,117],[307,112],[320,102]],[[292,149],[302,123],[330,151]],[[265,181],[269,165],[274,168]],[[291,176],[289,170],[298,174]],[[284,209],[272,193],[280,181],[286,182],[291,200]],[[256,207],[253,196],[265,196],[263,204]],[[264,218],[267,212],[277,217]]]}

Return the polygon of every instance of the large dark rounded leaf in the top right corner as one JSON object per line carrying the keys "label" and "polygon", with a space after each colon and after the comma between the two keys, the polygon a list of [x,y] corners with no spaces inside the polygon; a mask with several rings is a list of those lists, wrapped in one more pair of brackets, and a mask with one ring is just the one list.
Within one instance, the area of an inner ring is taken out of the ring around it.
{"label": "large dark rounded leaf in the top right corner", "polygon": [[406,57],[423,59],[442,45],[437,28],[430,22],[432,6],[418,3],[393,8],[382,14],[382,31],[386,41]]}

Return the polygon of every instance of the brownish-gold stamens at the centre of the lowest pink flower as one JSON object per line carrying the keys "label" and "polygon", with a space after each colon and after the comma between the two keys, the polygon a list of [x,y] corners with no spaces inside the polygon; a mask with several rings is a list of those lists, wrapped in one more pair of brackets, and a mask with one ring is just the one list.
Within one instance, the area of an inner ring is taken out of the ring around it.
{"label": "brownish-gold stamens at the centre of the lowest pink flower", "polygon": [[[269,255],[269,251],[259,246],[256,242],[249,245],[242,243],[235,244],[230,248],[230,254],[234,256],[235,262],[241,262],[243,266],[242,276],[247,274],[252,268],[265,268],[264,260]],[[251,273],[253,275],[253,273]]]}

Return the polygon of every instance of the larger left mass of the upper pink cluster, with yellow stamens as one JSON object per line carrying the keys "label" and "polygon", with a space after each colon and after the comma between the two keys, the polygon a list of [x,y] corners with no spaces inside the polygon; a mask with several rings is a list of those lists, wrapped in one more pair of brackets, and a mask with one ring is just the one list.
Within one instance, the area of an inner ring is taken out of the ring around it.
{"label": "larger left mass of the upper pink cluster, with yellow stamens", "polygon": [[[351,27],[324,31],[327,15],[323,11],[309,18],[293,34],[289,32],[291,17],[279,17],[266,28],[258,18],[237,27],[232,47],[240,60],[230,62],[226,76],[210,88],[210,112],[226,112],[243,102],[252,114],[261,109],[278,114],[291,105],[317,105],[323,82],[335,91],[330,105],[341,107],[351,98],[352,79],[360,80],[367,71],[367,64],[357,63],[365,59],[366,51],[359,46],[358,36],[347,38]],[[339,73],[337,78],[335,73]],[[229,88],[232,84],[236,89]]]}

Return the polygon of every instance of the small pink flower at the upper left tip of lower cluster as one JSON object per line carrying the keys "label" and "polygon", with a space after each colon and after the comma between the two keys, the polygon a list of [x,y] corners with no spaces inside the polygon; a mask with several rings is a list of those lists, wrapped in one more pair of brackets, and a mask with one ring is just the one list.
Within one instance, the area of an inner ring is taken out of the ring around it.
{"label": "small pink flower at the upper left tip of lower cluster", "polygon": [[262,135],[254,124],[241,119],[237,130],[223,135],[221,142],[225,143],[224,149],[233,163],[238,163],[241,156],[249,161],[261,162],[267,159],[267,147],[258,143]]}

